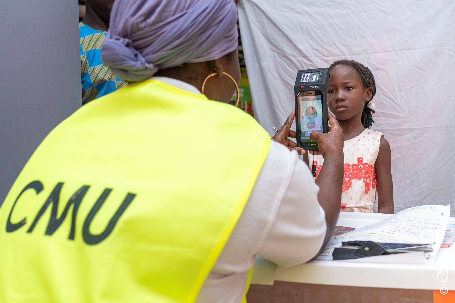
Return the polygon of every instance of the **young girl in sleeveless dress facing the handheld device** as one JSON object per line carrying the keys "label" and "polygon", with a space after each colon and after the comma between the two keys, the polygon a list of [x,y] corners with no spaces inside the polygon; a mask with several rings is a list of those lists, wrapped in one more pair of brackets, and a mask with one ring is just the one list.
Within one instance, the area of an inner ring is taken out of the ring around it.
{"label": "young girl in sleeveless dress facing the handheld device", "polygon": [[[376,191],[378,213],[394,213],[390,145],[382,133],[369,129],[374,123],[376,94],[368,67],[339,60],[330,65],[328,103],[344,131],[344,180],[341,211],[372,213]],[[308,154],[316,178],[324,159]],[[310,165],[311,167],[311,165]]]}

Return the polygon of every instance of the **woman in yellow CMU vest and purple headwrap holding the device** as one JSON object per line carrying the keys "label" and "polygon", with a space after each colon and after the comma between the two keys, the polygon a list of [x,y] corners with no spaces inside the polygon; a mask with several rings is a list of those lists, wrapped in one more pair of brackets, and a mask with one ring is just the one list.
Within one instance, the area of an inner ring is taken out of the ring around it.
{"label": "woman in yellow CMU vest and purple headwrap holding the device", "polygon": [[53,129],[10,189],[0,302],[240,302],[256,254],[293,266],[319,252],[343,131],[331,116],[312,133],[316,184],[288,149],[293,114],[271,140],[226,103],[236,22],[233,0],[116,0],[101,58],[128,84]]}

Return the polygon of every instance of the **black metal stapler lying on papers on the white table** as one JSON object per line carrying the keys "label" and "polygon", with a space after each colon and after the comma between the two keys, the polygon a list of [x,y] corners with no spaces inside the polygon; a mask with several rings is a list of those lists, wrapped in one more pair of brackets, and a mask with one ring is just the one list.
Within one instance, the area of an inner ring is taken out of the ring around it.
{"label": "black metal stapler lying on papers on the white table", "polygon": [[341,244],[341,247],[334,248],[334,252],[332,253],[334,260],[358,259],[415,251],[423,251],[425,257],[429,258],[430,256],[427,253],[433,251],[432,244],[380,243],[374,241],[348,241],[341,242]]}

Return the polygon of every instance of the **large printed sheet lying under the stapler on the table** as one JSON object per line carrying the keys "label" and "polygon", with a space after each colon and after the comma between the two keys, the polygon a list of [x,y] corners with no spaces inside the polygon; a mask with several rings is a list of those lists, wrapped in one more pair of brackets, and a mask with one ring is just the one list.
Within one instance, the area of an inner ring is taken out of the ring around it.
{"label": "large printed sheet lying under the stapler on the table", "polygon": [[[314,259],[333,260],[332,253],[334,248],[340,247],[341,242],[370,240],[385,243],[433,244],[433,252],[430,253],[430,258],[425,262],[434,263],[436,254],[438,253],[444,238],[449,216],[450,204],[446,206],[424,205],[404,209],[387,219],[379,221],[378,223],[356,228],[351,232],[343,233],[339,236],[331,238],[324,250]],[[367,259],[374,258],[375,261],[382,259],[382,262],[388,263],[387,260],[391,256],[392,255],[368,257],[362,258],[363,260],[352,259],[349,261],[356,262],[356,260],[359,260],[358,262],[368,262]],[[393,258],[389,259],[392,261]]]}

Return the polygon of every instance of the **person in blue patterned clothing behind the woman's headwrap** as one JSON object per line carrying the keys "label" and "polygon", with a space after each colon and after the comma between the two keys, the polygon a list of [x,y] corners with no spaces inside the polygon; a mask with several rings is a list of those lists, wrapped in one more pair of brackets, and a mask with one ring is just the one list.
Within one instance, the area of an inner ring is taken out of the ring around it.
{"label": "person in blue patterned clothing behind the woman's headwrap", "polygon": [[79,23],[81,43],[82,104],[121,88],[121,82],[101,61],[101,45],[109,28],[114,0],[86,0],[86,14]]}

